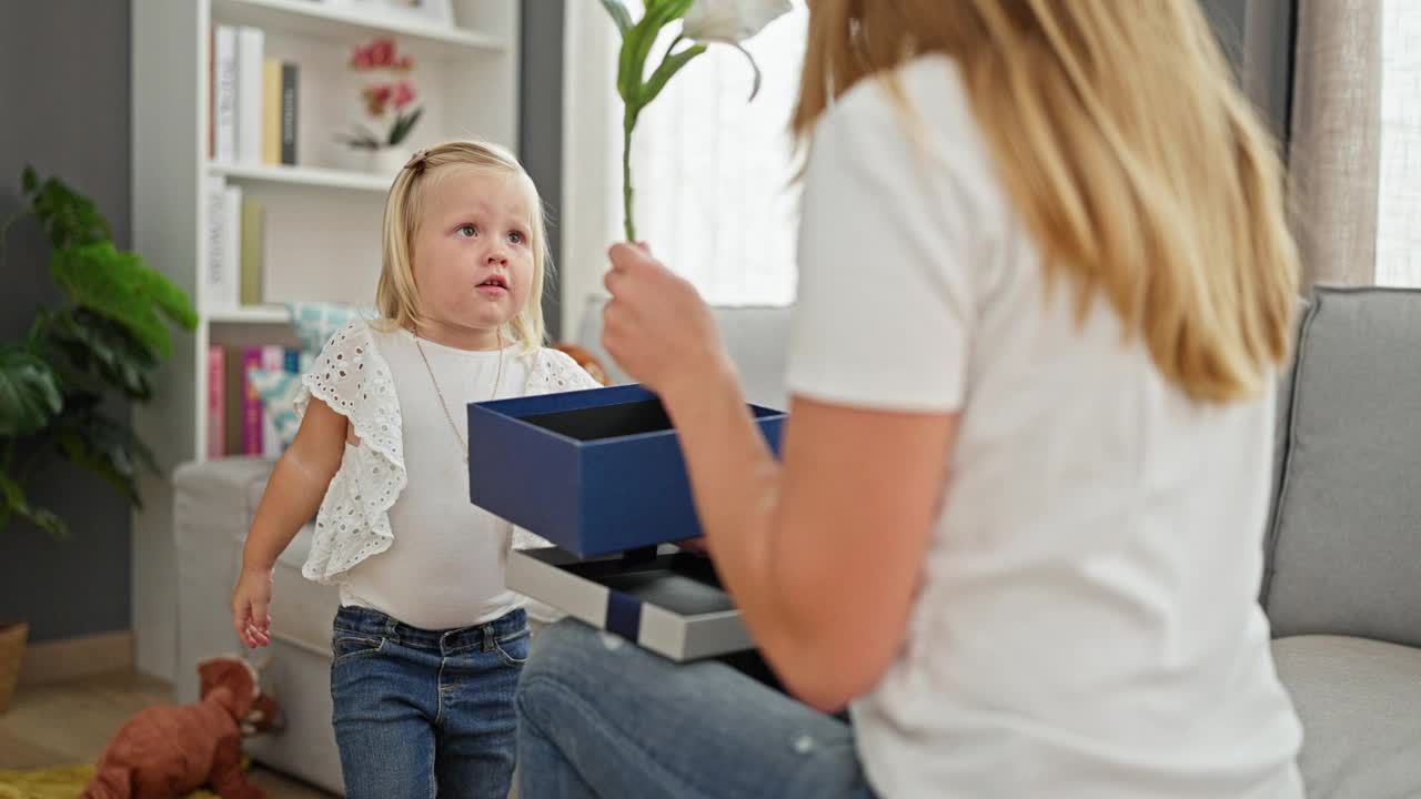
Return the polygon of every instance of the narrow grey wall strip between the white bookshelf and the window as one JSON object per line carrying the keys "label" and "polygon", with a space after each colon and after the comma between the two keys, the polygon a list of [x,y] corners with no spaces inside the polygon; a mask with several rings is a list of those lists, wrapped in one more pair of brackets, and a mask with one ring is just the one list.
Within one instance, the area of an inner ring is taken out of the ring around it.
{"label": "narrow grey wall strip between the white bookshelf and the window", "polygon": [[[585,1],[585,0],[578,0]],[[543,195],[547,208],[549,245],[553,264],[563,264],[563,0],[523,3],[523,41],[519,87],[519,155]],[[549,336],[558,340],[563,314],[558,310],[563,281],[556,273],[543,296],[543,318]]]}

